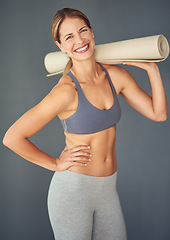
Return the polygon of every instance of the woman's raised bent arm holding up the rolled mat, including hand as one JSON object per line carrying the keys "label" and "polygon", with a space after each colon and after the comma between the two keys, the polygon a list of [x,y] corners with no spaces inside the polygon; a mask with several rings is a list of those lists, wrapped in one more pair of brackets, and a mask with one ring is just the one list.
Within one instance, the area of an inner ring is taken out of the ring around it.
{"label": "woman's raised bent arm holding up the rolled mat, including hand", "polygon": [[147,71],[149,76],[152,97],[143,91],[132,75],[124,68],[119,67],[116,71],[120,93],[123,98],[138,112],[153,121],[165,121],[167,119],[166,95],[156,63],[128,62],[125,64],[136,66]]}

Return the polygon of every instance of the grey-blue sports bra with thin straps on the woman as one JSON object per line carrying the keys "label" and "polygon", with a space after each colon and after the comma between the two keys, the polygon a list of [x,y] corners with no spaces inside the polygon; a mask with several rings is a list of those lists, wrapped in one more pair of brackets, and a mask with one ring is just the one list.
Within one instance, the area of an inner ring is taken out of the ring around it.
{"label": "grey-blue sports bra with thin straps on the woman", "polygon": [[120,120],[121,109],[116,96],[115,88],[107,70],[100,63],[99,65],[106,72],[114,96],[114,103],[112,107],[107,110],[102,110],[93,106],[84,95],[78,80],[71,71],[68,71],[67,74],[76,85],[79,103],[76,112],[67,119],[61,120],[63,128],[66,132],[75,134],[91,134],[113,127]]}

